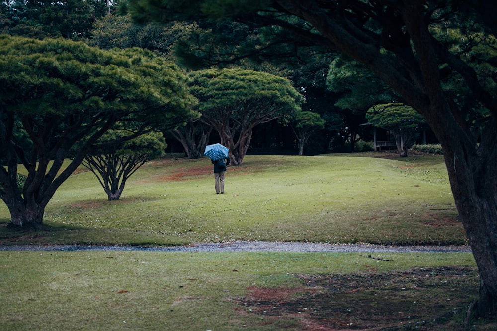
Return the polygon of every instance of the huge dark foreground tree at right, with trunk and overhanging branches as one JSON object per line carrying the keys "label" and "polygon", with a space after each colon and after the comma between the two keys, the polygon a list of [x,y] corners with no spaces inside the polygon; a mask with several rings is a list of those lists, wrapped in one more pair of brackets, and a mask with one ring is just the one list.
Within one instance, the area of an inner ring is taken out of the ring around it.
{"label": "huge dark foreground tree at right, with trunk and overhanging branches", "polygon": [[137,21],[231,16],[281,26],[370,69],[441,143],[480,271],[476,312],[497,315],[496,1],[131,0],[129,8]]}

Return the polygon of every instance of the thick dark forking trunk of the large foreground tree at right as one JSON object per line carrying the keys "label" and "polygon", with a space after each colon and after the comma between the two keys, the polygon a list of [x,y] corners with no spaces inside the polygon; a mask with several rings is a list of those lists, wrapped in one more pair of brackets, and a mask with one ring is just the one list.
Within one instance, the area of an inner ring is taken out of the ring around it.
{"label": "thick dark forking trunk of the large foreground tree at right", "polygon": [[[424,116],[443,147],[459,219],[480,272],[481,288],[476,312],[478,316],[497,316],[497,122],[492,117],[478,130],[470,128],[473,124],[466,122],[465,112],[451,102],[451,97],[441,86],[440,63],[447,61],[464,72],[469,87],[494,114],[495,103],[489,101],[486,92],[480,89],[476,75],[469,74],[459,59],[435,52],[431,46],[432,36],[419,19],[424,3],[405,1],[405,4],[404,19],[419,59],[419,77],[427,98],[417,98],[400,89],[397,91]],[[442,59],[437,61],[438,57]]]}

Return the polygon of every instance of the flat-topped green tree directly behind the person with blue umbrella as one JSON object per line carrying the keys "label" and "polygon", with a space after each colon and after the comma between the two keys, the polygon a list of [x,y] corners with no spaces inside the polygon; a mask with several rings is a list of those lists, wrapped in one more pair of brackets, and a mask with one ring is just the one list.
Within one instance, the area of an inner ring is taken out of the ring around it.
{"label": "flat-topped green tree directly behind the person with blue umbrella", "polygon": [[269,73],[209,69],[194,71],[190,78],[200,120],[219,133],[233,165],[242,164],[255,126],[300,109],[301,95],[291,82]]}

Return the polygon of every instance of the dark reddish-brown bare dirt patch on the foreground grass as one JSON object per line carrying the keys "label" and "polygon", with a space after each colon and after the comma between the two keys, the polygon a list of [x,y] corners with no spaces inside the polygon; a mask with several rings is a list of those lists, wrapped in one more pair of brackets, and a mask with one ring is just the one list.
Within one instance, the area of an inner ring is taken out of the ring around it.
{"label": "dark reddish-brown bare dirt patch on the foreground grass", "polygon": [[[295,330],[465,330],[477,298],[476,268],[450,266],[345,275],[300,275],[304,287],[249,287],[238,303],[262,324],[297,321]],[[254,326],[255,327],[255,326]],[[472,326],[496,330],[497,323]]]}

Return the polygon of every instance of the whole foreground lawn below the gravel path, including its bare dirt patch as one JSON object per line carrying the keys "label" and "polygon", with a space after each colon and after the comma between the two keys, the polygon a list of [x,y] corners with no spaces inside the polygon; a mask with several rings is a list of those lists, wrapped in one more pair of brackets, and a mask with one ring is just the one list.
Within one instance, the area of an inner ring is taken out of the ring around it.
{"label": "whole foreground lawn below the gravel path, including its bare dirt patch", "polygon": [[315,330],[366,329],[440,313],[449,314],[449,328],[433,330],[461,330],[478,288],[471,254],[381,257],[393,261],[356,253],[0,252],[0,330],[312,330],[311,321],[323,328]]}

